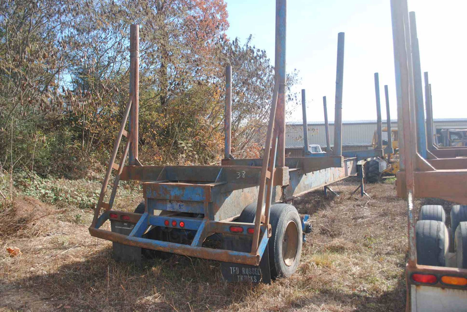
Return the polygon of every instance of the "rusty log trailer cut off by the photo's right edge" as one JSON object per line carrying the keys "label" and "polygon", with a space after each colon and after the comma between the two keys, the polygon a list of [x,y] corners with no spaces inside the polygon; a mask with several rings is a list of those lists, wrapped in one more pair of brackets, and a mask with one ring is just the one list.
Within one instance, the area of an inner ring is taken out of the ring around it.
{"label": "rusty log trailer cut off by the photo's right edge", "polygon": [[[396,188],[408,216],[406,311],[467,311],[467,149],[433,145],[431,86],[425,73],[425,120],[415,13],[407,0],[390,3],[401,159]],[[417,197],[448,203],[418,209]],[[450,227],[444,208],[451,208]]]}

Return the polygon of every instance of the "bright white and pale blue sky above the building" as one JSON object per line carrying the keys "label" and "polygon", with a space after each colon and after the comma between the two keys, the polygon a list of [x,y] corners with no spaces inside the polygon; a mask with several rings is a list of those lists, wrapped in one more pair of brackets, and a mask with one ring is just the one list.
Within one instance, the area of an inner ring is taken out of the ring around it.
{"label": "bright white and pale blue sky above the building", "polygon": [[[274,59],[274,0],[226,0],[227,35],[265,49]],[[295,92],[306,90],[307,119],[323,121],[323,96],[334,119],[337,34],[345,32],[343,120],[376,119],[374,73],[379,73],[382,119],[384,85],[390,117],[397,118],[389,0],[288,0],[287,71],[299,71]],[[415,11],[420,59],[432,84],[433,118],[467,118],[467,1],[408,0]],[[235,69],[232,69],[233,71]],[[423,78],[422,78],[423,79]],[[301,121],[301,106],[287,121]]]}

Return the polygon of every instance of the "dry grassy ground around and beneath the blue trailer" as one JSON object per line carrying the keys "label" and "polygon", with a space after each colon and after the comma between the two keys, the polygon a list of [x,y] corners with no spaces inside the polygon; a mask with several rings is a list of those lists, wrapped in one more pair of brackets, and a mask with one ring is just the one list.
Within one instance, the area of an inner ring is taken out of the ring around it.
{"label": "dry grassy ground around and beneath the blue trailer", "polygon": [[[313,232],[297,273],[270,285],[226,283],[219,262],[198,258],[116,263],[112,244],[89,236],[91,211],[70,217],[23,198],[36,218],[0,237],[0,311],[403,311],[405,202],[394,181],[368,185],[363,198],[351,195],[357,186],[347,178],[332,186],[339,197],[295,201]],[[21,207],[9,220],[26,217]]]}

